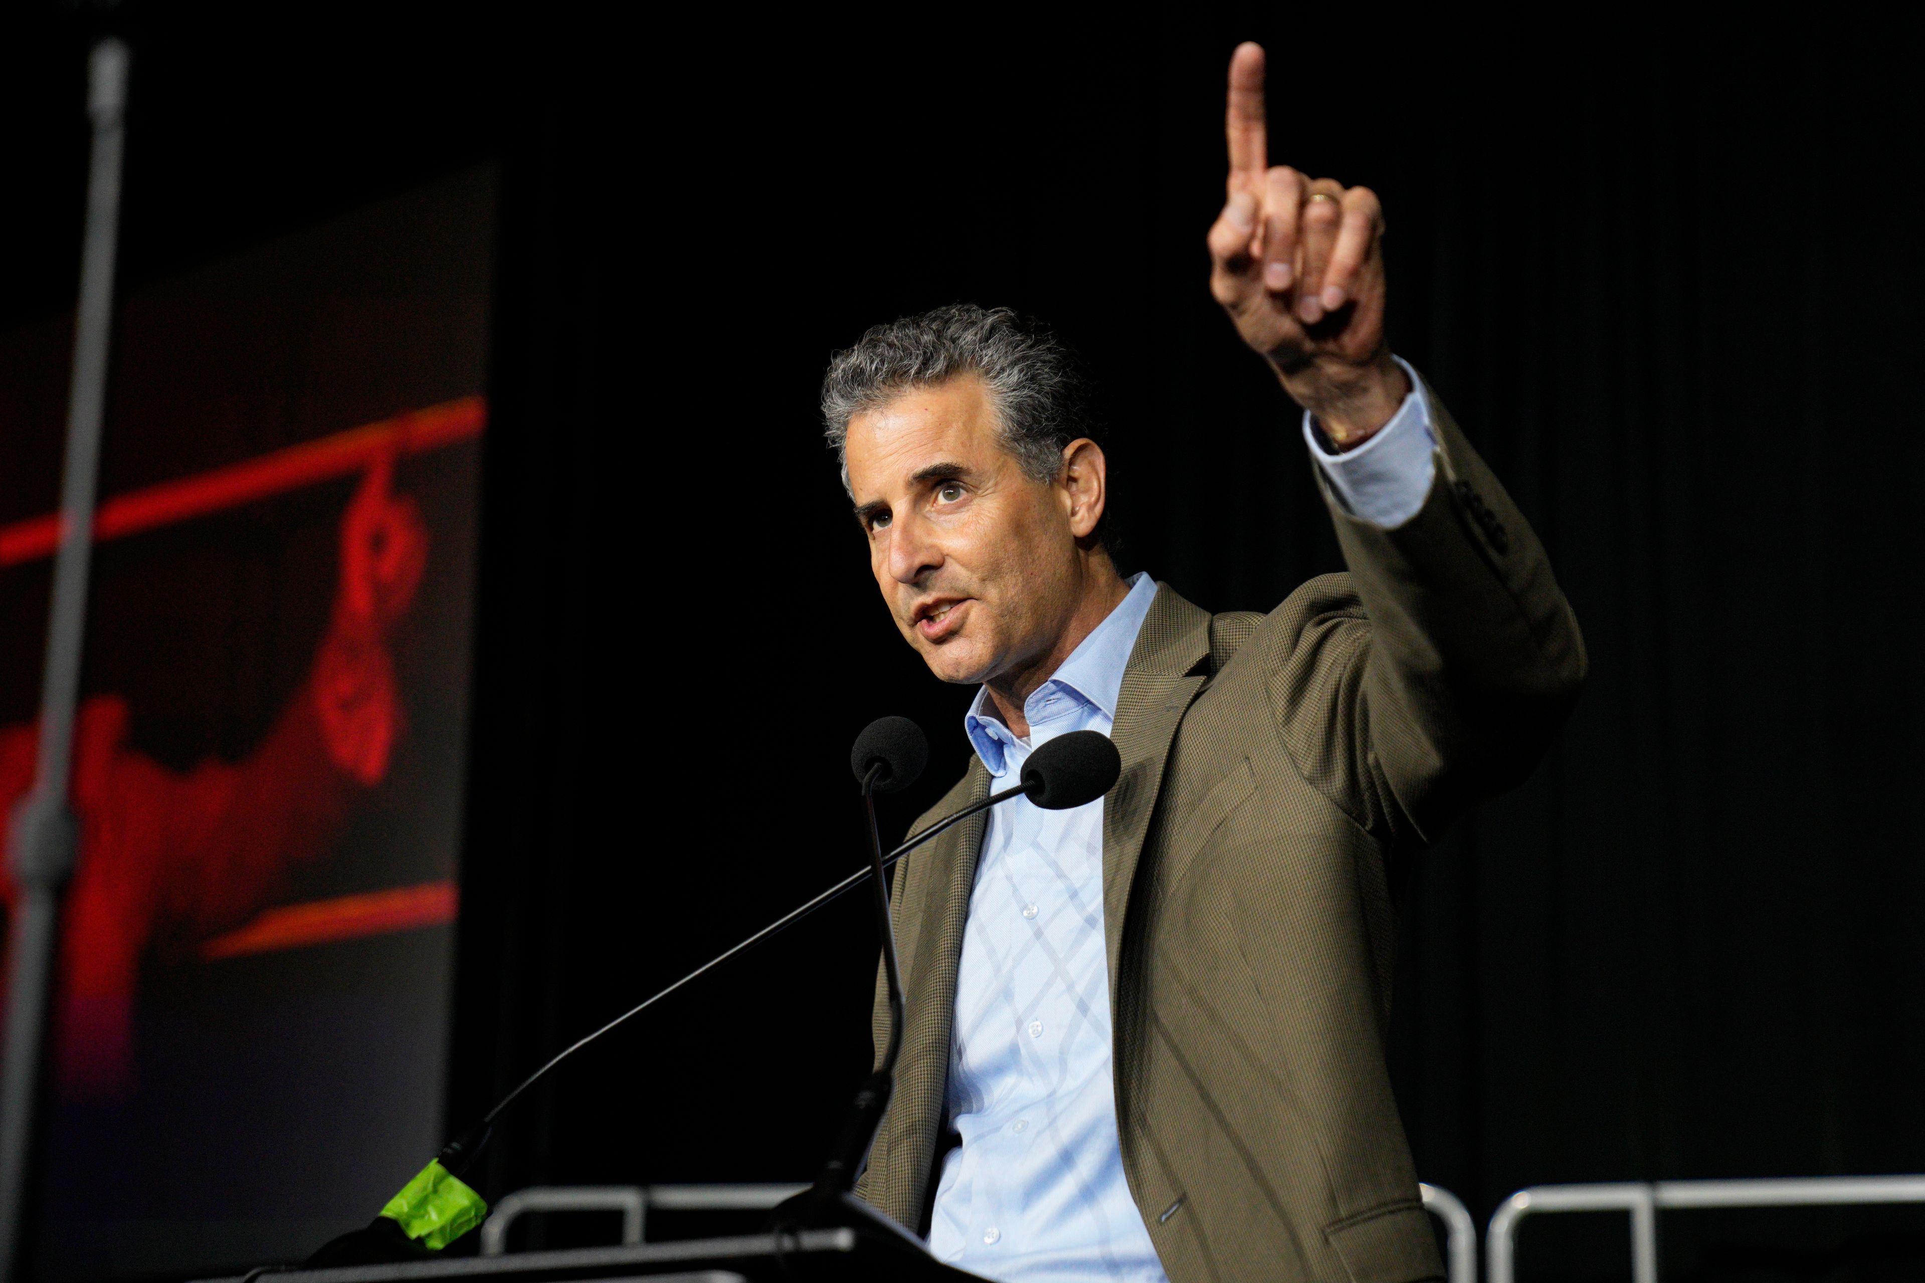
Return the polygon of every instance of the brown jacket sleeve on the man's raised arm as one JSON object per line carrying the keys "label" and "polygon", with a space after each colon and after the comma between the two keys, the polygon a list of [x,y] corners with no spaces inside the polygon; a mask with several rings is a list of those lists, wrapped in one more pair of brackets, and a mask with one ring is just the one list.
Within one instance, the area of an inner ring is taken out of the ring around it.
{"label": "brown jacket sleeve on the man's raised arm", "polygon": [[1436,473],[1417,516],[1357,519],[1319,471],[1348,583],[1303,585],[1263,629],[1297,771],[1382,841],[1434,841],[1521,783],[1586,671],[1536,533],[1434,396],[1430,412]]}

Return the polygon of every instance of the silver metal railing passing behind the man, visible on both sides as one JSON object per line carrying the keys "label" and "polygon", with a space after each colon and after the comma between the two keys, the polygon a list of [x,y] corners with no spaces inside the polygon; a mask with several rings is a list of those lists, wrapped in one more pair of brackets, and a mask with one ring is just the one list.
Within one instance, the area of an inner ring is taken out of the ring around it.
{"label": "silver metal railing passing behind the man, visible on both sides", "polygon": [[[622,1243],[647,1239],[649,1208],[662,1212],[764,1212],[808,1185],[533,1185],[495,1204],[481,1225],[481,1254],[508,1250],[508,1225],[529,1212],[620,1212]],[[1476,1283],[1476,1221],[1440,1185],[1419,1183],[1424,1210],[1444,1221],[1450,1283]]]}

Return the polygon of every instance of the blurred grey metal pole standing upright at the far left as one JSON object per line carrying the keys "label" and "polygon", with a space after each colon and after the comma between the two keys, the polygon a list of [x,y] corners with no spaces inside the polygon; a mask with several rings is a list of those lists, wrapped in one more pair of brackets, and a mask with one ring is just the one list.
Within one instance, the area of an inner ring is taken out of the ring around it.
{"label": "blurred grey metal pole standing upright at the far left", "polygon": [[60,492],[62,535],[46,621],[40,746],[33,789],[13,812],[10,833],[17,894],[13,921],[8,925],[6,1033],[0,1043],[0,1283],[17,1275],[40,1043],[58,956],[60,900],[79,854],[79,825],[67,804],[67,783],[87,637],[87,571],[94,546],[94,479],[106,406],[108,337],[114,327],[127,46],[112,37],[100,40],[89,56],[87,73],[87,113],[94,138],[87,171],[81,302],[73,327],[67,460]]}

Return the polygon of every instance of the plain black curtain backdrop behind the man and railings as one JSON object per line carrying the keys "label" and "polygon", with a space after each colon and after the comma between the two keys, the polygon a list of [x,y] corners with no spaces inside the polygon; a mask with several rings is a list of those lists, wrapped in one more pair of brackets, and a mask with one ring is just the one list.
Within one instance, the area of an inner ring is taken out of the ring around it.
{"label": "plain black curtain backdrop behind the man and railings", "polygon": [[[1536,777],[1405,869],[1421,1175],[1482,1220],[1528,1183],[1925,1168],[1913,27],[416,13],[125,13],[123,262],[502,162],[454,1116],[853,869],[870,717],[934,741],[893,829],[961,769],[966,692],[893,637],[820,448],[862,327],[1051,319],[1101,390],[1124,560],[1192,600],[1336,566],[1294,412],[1205,290],[1222,69],[1259,38],[1272,160],[1382,194],[1394,342],[1592,652]],[[4,306],[44,310],[89,19],[8,21]],[[872,968],[849,900],[678,994],[533,1093],[485,1193],[805,1179]],[[1621,1277],[1592,1220],[1532,1225],[1527,1277]],[[1669,1216],[1667,1273],[1912,1275],[1921,1223]]]}

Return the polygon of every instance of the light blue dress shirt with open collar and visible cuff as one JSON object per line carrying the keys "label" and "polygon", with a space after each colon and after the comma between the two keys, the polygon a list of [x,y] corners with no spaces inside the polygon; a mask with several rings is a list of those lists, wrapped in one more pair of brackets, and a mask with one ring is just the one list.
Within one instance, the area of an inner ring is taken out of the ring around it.
{"label": "light blue dress shirt with open collar and visible cuff", "polygon": [[[1371,440],[1313,458],[1351,514],[1401,525],[1423,508],[1436,433],[1413,392]],[[1070,731],[1111,733],[1122,669],[1157,585],[1130,579],[1122,604],[1024,700],[1018,739],[978,691],[962,729],[995,777]],[[949,1052],[949,1123],[930,1252],[1005,1283],[1167,1283],[1122,1173],[1111,1071],[1109,962],[1103,946],[1103,800],[1047,812],[1028,798],[989,812],[976,864]]]}

